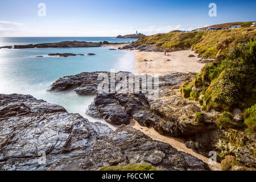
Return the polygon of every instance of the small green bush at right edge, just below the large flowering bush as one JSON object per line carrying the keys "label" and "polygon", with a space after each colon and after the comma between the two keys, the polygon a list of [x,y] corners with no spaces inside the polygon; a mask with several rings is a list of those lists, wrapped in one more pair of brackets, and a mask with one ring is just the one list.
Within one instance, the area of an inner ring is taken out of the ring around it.
{"label": "small green bush at right edge, just below the large flowering bush", "polygon": [[243,113],[245,118],[245,125],[251,131],[256,131],[256,104],[246,109]]}

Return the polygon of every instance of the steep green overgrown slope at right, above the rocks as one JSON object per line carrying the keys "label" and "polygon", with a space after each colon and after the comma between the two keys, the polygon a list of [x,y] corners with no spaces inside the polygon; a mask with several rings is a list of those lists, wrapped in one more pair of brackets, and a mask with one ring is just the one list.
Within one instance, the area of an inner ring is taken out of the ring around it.
{"label": "steep green overgrown slope at right, above the rocks", "polygon": [[[256,40],[229,47],[214,63],[205,65],[191,82],[180,89],[184,98],[199,100],[202,109],[225,111],[217,124],[226,128],[247,127],[256,131]],[[193,90],[193,91],[192,91]],[[244,123],[228,113],[244,110]]]}

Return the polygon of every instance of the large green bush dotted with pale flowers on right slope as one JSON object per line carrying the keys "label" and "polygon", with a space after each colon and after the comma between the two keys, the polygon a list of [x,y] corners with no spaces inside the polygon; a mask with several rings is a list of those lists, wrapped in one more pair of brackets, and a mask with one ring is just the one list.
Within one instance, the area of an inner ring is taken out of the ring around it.
{"label": "large green bush dotted with pale flowers on right slope", "polygon": [[203,81],[210,81],[203,97],[207,110],[245,109],[256,102],[256,40],[228,48],[226,57],[201,70]]}

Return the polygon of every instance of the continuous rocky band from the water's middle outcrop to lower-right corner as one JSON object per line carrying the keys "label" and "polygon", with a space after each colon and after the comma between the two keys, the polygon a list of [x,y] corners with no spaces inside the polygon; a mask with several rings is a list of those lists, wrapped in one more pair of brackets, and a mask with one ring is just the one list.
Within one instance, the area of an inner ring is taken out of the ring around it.
{"label": "continuous rocky band from the water's middle outcrop to lower-right corner", "polygon": [[[181,96],[180,87],[191,80],[194,73],[172,73],[159,77],[159,97],[148,99],[148,94],[102,94],[97,93],[98,73],[80,73],[56,80],[49,90],[74,89],[77,94],[96,94],[86,113],[95,118],[115,124],[128,125],[135,119],[141,126],[152,127],[159,134],[185,138],[185,145],[193,151],[209,157],[210,151],[217,152],[220,162],[224,156],[234,154],[247,167],[256,167],[254,152],[255,135],[237,130],[221,130],[216,125],[220,113],[201,110],[198,102]],[[128,74],[128,73],[127,73]],[[115,85],[122,81],[115,82]],[[200,119],[198,119],[200,114]],[[232,139],[230,139],[230,137]],[[234,137],[235,136],[235,137]]]}

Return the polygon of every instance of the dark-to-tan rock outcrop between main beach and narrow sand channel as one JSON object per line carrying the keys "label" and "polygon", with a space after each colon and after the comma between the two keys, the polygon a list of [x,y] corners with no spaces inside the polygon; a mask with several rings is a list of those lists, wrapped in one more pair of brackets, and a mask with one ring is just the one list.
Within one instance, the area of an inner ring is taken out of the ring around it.
{"label": "dark-to-tan rock outcrop between main beach and narrow sand channel", "polygon": [[[131,118],[142,126],[152,126],[160,134],[180,137],[190,136],[201,131],[213,129],[212,118],[205,116],[205,122],[196,122],[196,111],[201,111],[195,101],[184,100],[179,92],[179,85],[193,78],[192,73],[173,73],[159,77],[159,97],[150,99],[149,93],[102,94],[97,93],[98,73],[80,73],[56,80],[49,90],[75,89],[77,94],[97,94],[87,114],[105,118],[110,123],[128,124]],[[125,72],[126,73],[126,72]],[[117,73],[116,73],[117,74]],[[126,73],[126,76],[129,73]],[[122,84],[116,81],[115,85]]]}

